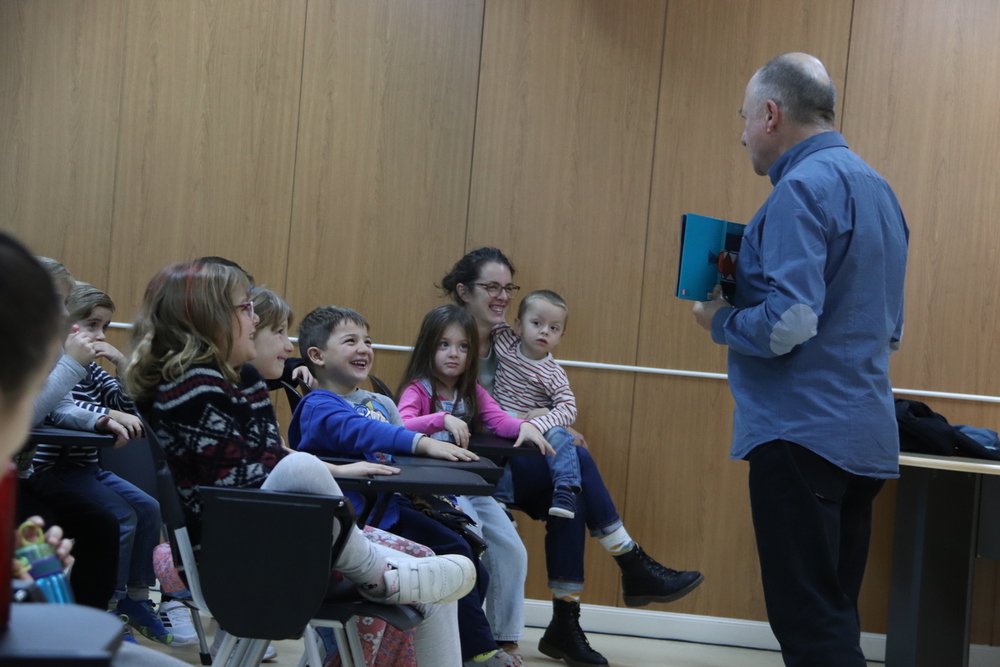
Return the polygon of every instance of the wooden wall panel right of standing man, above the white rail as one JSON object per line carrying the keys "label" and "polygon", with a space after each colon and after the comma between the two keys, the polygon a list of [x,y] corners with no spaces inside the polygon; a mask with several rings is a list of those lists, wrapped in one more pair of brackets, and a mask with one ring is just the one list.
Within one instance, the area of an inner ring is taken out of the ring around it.
{"label": "wooden wall panel right of standing man, above the white rail", "polygon": [[1000,12],[859,0],[854,26],[844,133],[893,185],[911,234],[894,384],[998,395]]}

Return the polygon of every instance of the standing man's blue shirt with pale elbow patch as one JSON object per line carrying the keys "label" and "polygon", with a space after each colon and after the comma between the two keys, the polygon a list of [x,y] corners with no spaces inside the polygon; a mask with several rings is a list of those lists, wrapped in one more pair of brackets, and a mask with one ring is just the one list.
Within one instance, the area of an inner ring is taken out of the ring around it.
{"label": "standing man's blue shirt with pale elbow patch", "polygon": [[837,132],[768,171],[747,225],[735,308],[712,321],[729,346],[733,458],[788,440],[848,472],[899,473],[889,353],[903,326],[909,231],[892,189]]}

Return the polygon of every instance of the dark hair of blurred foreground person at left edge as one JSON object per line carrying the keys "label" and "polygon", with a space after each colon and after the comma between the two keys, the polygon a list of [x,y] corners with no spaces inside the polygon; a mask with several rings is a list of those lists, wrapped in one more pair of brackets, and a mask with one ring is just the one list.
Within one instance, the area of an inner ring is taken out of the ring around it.
{"label": "dark hair of blurred foreground person at left edge", "polygon": [[[0,232],[0,394],[19,400],[65,321],[52,278],[31,253]],[[10,403],[8,403],[10,401]]]}

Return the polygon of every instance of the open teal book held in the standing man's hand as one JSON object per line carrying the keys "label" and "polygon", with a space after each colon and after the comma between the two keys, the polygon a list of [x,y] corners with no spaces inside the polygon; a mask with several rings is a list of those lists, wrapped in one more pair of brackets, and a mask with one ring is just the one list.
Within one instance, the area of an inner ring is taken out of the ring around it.
{"label": "open teal book held in the standing man's hand", "polygon": [[706,301],[716,285],[732,301],[736,261],[746,225],[705,215],[681,216],[681,252],[677,263],[677,296]]}

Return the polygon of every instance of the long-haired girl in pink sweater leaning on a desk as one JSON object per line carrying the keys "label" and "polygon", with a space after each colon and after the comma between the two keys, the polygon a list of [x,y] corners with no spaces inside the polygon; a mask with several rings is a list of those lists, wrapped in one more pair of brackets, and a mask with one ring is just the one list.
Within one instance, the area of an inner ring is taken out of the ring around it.
{"label": "long-haired girl in pink sweater leaning on a desk", "polygon": [[469,353],[478,349],[476,321],[463,308],[447,304],[427,313],[400,383],[403,424],[460,447],[469,446],[472,430],[485,427],[515,439],[515,447],[529,442],[552,454],[531,422],[508,415],[479,385],[479,355]]}

